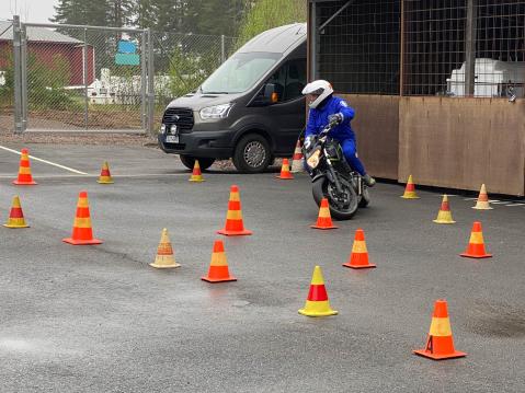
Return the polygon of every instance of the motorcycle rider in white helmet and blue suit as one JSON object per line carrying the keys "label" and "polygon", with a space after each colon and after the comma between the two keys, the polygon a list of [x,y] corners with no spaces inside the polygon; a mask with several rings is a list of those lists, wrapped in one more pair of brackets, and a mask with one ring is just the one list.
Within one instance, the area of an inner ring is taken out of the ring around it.
{"label": "motorcycle rider in white helmet and blue suit", "polygon": [[346,161],[363,176],[365,184],[374,186],[376,181],[366,173],[356,154],[355,134],[350,125],[354,118],[354,108],[343,99],[334,96],[332,85],[322,79],[308,83],[303,89],[303,94],[310,107],[305,138],[319,134],[330,123],[336,124],[329,132],[330,137],[340,142]]}

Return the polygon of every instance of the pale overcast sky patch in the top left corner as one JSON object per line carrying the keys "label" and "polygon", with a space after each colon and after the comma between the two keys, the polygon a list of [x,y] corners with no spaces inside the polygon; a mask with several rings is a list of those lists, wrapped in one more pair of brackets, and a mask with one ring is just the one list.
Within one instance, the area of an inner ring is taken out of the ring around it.
{"label": "pale overcast sky patch in the top left corner", "polygon": [[0,20],[19,14],[24,22],[49,23],[58,0],[0,0]]}

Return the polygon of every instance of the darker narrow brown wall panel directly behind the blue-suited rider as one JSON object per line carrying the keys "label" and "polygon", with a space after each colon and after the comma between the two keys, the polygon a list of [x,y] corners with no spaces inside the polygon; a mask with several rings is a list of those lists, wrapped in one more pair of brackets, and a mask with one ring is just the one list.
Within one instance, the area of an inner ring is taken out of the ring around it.
{"label": "darker narrow brown wall panel directly behind the blue-suited rider", "polygon": [[352,128],[357,153],[367,172],[381,178],[398,178],[399,96],[339,94],[355,109]]}

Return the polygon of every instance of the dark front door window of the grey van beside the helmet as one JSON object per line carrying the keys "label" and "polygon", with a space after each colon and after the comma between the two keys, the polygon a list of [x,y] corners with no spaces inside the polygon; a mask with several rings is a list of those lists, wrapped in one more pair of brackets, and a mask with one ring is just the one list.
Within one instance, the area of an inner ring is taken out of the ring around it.
{"label": "dark front door window of the grey van beside the helmet", "polygon": [[306,59],[290,60],[284,63],[266,81],[275,85],[277,102],[286,102],[301,96],[306,85]]}

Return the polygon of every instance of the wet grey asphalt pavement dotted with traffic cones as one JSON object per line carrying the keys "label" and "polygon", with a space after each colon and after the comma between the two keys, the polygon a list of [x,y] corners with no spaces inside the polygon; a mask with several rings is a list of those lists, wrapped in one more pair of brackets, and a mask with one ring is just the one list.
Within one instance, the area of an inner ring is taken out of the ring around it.
{"label": "wet grey asphalt pavement dotted with traffic cones", "polygon": [[[8,148],[19,149],[10,145]],[[318,209],[306,175],[206,182],[157,149],[31,146],[34,187],[15,187],[18,155],[0,149],[0,218],[21,197],[28,229],[0,227],[0,391],[4,392],[523,392],[525,205],[471,209],[450,196],[456,224],[432,222],[441,194],[404,200],[377,184],[372,205],[336,230],[309,226]],[[95,180],[110,162],[113,185]],[[416,180],[415,180],[416,182]],[[231,184],[251,236],[224,238]],[[77,198],[87,190],[96,246],[71,246]],[[490,192],[490,190],[489,190]],[[494,256],[458,256],[475,220]],[[162,228],[182,266],[158,270]],[[342,267],[362,228],[376,269]],[[214,240],[238,281],[212,285]],[[339,314],[305,305],[320,265]],[[433,361],[422,348],[434,301],[448,301],[456,349]]]}

